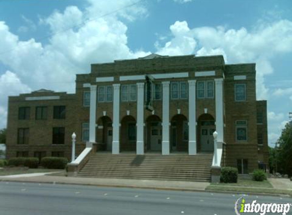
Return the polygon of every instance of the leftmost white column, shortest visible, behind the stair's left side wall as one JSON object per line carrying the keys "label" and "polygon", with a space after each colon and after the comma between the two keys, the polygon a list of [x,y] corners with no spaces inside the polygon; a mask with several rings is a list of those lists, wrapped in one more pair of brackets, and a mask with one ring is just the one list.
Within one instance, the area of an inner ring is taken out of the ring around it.
{"label": "leftmost white column, shortest visible, behind the stair's left side wall", "polygon": [[96,85],[90,86],[90,110],[89,110],[89,143],[95,143],[96,125]]}

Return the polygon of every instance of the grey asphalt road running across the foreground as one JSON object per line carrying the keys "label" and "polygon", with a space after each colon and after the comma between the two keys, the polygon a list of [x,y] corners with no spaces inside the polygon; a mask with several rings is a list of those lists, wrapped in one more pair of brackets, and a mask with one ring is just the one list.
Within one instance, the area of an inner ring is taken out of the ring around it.
{"label": "grey asphalt road running across the foreground", "polygon": [[[0,215],[234,215],[234,202],[242,196],[2,181],[0,182]],[[292,200],[270,196],[245,196],[245,199],[273,203],[291,203]],[[290,213],[292,214],[292,210]]]}

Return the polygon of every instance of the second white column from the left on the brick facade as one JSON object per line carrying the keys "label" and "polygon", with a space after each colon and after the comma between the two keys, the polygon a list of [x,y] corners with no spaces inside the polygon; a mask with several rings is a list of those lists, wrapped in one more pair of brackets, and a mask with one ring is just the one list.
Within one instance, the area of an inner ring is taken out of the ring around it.
{"label": "second white column from the left on the brick facade", "polygon": [[113,84],[114,102],[113,102],[113,144],[112,153],[120,153],[120,84]]}

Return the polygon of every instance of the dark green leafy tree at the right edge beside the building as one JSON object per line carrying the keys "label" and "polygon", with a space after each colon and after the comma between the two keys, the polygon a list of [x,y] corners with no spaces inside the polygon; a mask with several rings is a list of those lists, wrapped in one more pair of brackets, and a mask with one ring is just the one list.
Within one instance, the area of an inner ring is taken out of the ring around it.
{"label": "dark green leafy tree at the right edge beside the building", "polygon": [[287,123],[277,141],[278,172],[292,176],[292,123]]}

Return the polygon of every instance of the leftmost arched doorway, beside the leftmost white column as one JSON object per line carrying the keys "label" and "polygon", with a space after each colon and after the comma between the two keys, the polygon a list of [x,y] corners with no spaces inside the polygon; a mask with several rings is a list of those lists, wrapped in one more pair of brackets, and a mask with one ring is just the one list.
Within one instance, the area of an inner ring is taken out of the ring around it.
{"label": "leftmost arched doorway, beside the leftmost white column", "polygon": [[103,116],[97,120],[96,141],[103,144],[103,150],[112,151],[113,126],[110,117]]}

